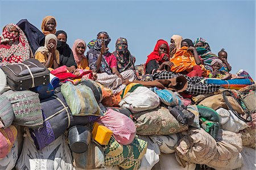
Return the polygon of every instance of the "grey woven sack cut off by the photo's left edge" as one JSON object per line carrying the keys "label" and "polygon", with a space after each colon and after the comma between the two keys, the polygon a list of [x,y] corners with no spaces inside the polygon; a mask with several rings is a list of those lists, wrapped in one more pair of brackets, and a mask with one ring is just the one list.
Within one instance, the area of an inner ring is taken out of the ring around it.
{"label": "grey woven sack cut off by the photo's left edge", "polygon": [[11,102],[6,96],[0,94],[0,128],[9,127],[13,123],[14,113]]}

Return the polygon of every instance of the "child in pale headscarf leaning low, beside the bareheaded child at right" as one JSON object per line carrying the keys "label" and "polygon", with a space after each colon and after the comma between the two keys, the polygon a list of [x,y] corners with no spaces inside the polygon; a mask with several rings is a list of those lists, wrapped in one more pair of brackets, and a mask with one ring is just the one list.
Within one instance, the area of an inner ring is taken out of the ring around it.
{"label": "child in pale headscarf leaning low, beside the bareheaded child at right", "polygon": [[234,79],[234,78],[245,78],[243,76],[237,76],[235,74],[230,74],[226,71],[222,71],[222,61],[220,59],[213,59],[212,63],[210,63],[210,65],[212,65],[212,69],[213,72],[209,74],[209,78],[220,78],[221,80],[230,80],[230,79]]}

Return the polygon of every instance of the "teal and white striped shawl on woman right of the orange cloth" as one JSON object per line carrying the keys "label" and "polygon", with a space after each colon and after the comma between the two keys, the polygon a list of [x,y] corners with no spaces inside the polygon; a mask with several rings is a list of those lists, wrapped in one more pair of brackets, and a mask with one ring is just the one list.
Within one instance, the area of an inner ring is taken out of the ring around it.
{"label": "teal and white striped shawl on woman right of the orange cloth", "polygon": [[201,59],[204,61],[205,69],[212,72],[212,67],[210,63],[212,63],[213,59],[218,59],[218,56],[214,55],[214,53],[210,52],[207,47],[197,47],[196,51],[198,55],[200,55]]}

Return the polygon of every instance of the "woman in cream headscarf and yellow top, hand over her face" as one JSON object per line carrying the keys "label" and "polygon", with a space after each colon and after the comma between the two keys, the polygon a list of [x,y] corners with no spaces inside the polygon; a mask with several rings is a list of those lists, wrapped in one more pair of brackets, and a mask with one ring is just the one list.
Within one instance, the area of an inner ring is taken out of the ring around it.
{"label": "woman in cream headscarf and yellow top, hand over her face", "polygon": [[54,34],[46,35],[44,47],[39,47],[35,52],[35,59],[39,60],[46,68],[56,69],[60,64],[60,55],[57,51],[57,37]]}

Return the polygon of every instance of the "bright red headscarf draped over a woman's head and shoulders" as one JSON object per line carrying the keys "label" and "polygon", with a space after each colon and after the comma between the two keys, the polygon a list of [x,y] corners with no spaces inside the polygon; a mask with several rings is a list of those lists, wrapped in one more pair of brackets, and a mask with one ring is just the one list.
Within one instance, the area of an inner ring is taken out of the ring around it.
{"label": "bright red headscarf draped over a woman's head and shoulders", "polygon": [[146,67],[147,67],[148,62],[151,60],[156,60],[156,62],[158,62],[158,63],[163,63],[165,61],[163,59],[164,55],[167,55],[168,57],[170,57],[169,56],[169,48],[167,48],[167,53],[162,53],[162,55],[159,56],[158,49],[159,49],[160,45],[162,45],[162,44],[166,44],[168,47],[168,43],[165,40],[158,40],[158,42],[155,45],[154,51],[151,52],[150,55],[147,56],[147,61],[145,64]]}

